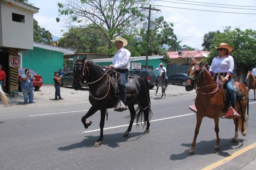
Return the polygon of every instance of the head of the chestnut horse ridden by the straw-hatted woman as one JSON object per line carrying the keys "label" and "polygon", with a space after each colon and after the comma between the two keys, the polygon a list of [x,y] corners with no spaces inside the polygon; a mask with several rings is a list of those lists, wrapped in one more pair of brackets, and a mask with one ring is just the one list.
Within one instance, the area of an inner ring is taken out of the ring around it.
{"label": "head of the chestnut horse ridden by the straw-hatted woman", "polygon": [[201,61],[195,61],[193,59],[193,62],[188,69],[188,77],[186,79],[185,86],[186,91],[192,91],[195,88],[196,82],[202,79],[204,75],[204,67],[202,65],[203,61],[204,59],[201,59]]}

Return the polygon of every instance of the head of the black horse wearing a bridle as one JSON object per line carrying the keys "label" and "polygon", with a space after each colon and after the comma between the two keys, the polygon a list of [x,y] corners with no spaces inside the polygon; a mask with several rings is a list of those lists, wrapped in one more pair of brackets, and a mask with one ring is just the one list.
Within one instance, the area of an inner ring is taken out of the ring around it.
{"label": "head of the black horse wearing a bridle", "polygon": [[75,66],[73,68],[73,85],[72,88],[75,90],[79,90],[82,86],[82,83],[84,82],[84,72],[86,68],[86,61],[84,59],[76,59]]}

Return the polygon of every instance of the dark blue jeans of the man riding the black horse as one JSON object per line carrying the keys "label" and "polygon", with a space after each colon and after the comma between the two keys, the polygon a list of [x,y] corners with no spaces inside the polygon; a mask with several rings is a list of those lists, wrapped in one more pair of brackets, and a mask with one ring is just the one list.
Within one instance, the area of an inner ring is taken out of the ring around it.
{"label": "dark blue jeans of the man riding the black horse", "polygon": [[126,88],[125,88],[125,83],[126,80],[128,79],[129,76],[129,72],[128,71],[120,71],[118,70],[117,72],[119,72],[120,74],[117,75],[117,79],[118,80],[118,89],[119,89],[119,96],[120,96],[120,100],[122,100],[123,102],[126,102]]}

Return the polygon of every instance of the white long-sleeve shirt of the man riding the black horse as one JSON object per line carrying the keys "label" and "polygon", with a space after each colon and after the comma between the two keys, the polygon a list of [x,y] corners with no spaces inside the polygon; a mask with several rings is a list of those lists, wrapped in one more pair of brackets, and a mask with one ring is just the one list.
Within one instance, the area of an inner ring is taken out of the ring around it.
{"label": "white long-sleeve shirt of the man riding the black horse", "polygon": [[115,68],[119,69],[128,69],[130,70],[130,57],[131,53],[129,50],[125,48],[121,48],[118,51],[116,51],[116,54],[113,58],[113,65]]}

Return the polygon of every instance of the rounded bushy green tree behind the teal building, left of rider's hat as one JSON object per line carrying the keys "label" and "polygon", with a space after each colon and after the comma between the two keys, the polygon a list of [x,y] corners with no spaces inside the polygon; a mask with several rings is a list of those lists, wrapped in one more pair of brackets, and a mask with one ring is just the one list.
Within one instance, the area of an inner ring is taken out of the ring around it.
{"label": "rounded bushy green tree behind the teal building, left of rider's hat", "polygon": [[88,26],[85,29],[70,28],[58,41],[58,46],[81,53],[108,53],[108,40],[105,39],[102,31],[93,26]]}

